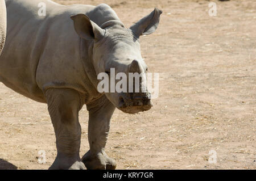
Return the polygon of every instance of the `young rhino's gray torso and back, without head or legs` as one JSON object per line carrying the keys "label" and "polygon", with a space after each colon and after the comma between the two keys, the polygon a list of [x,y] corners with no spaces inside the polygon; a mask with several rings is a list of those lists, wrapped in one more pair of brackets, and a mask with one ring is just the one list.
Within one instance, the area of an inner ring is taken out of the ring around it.
{"label": "young rhino's gray torso and back, without head or legs", "polygon": [[[41,2],[46,3],[46,16],[38,15]],[[9,0],[6,6],[9,18],[6,47],[0,57],[0,81],[39,102],[46,102],[43,91],[49,87],[97,94],[84,71],[81,40],[70,16],[87,14],[101,25],[118,19],[109,6],[63,6],[48,0]]]}

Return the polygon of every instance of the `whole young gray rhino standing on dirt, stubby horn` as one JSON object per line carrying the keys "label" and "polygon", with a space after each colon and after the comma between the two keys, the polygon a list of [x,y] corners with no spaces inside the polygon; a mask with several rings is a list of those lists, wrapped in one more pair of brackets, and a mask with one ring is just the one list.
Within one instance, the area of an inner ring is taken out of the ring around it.
{"label": "whole young gray rhino standing on dirt, stubby horn", "polygon": [[[46,3],[46,16],[38,4]],[[154,32],[155,9],[130,28],[105,4],[58,5],[49,0],[7,0],[7,41],[0,57],[0,81],[47,103],[56,134],[57,157],[49,169],[115,169],[105,145],[115,108],[127,113],[151,108],[150,94],[97,91],[97,74],[145,72],[139,36]],[[146,81],[143,77],[142,81]],[[142,89],[143,87],[140,87]],[[80,158],[79,111],[89,111],[90,150]]]}

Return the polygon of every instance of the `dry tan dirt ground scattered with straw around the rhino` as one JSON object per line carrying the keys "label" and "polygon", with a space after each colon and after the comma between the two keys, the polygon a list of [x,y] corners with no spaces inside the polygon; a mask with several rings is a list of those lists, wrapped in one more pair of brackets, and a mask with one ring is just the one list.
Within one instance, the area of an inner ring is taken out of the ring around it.
{"label": "dry tan dirt ground scattered with straw around the rhino", "polygon": [[[256,169],[256,1],[56,1],[112,6],[126,27],[154,7],[158,30],[141,37],[142,55],[160,73],[150,111],[116,110],[106,152],[117,169]],[[88,112],[80,112],[80,155]],[[48,169],[56,156],[47,105],[0,83],[0,169]],[[46,164],[38,151],[46,150]],[[217,163],[209,163],[209,151]]]}

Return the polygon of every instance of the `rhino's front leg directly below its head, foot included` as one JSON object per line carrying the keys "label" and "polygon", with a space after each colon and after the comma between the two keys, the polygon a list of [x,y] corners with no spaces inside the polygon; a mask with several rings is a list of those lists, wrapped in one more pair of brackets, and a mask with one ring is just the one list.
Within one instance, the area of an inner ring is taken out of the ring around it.
{"label": "rhino's front leg directly below its head, foot included", "polygon": [[117,164],[105,153],[110,119],[115,107],[103,96],[95,103],[87,105],[89,111],[88,140],[90,150],[82,157],[87,169],[114,170]]}

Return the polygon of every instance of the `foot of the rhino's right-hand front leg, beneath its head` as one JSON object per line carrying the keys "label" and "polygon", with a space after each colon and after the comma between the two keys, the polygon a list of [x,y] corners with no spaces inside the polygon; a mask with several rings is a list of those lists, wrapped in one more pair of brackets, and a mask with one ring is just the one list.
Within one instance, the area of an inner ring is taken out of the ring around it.
{"label": "foot of the rhino's right-hand front leg, beneath its head", "polygon": [[92,155],[89,150],[82,157],[82,162],[88,170],[114,170],[117,167],[117,163],[105,151]]}

